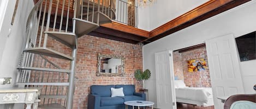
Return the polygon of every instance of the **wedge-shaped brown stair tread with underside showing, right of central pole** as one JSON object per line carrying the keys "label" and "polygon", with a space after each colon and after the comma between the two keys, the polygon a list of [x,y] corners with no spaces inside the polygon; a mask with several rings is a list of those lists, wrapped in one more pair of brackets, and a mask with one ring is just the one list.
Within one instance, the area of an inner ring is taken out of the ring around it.
{"label": "wedge-shaped brown stair tread with underside showing, right of central pole", "polygon": [[99,24],[97,23],[81,20],[79,18],[73,18],[73,20],[75,20],[75,34],[79,37],[86,35],[99,27]]}

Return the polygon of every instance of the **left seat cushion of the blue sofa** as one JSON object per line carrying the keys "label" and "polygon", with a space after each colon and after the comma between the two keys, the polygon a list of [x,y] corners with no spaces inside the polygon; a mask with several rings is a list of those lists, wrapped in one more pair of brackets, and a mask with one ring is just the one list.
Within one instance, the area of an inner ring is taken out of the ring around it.
{"label": "left seat cushion of the blue sofa", "polygon": [[120,97],[102,97],[100,106],[123,105],[124,100]]}

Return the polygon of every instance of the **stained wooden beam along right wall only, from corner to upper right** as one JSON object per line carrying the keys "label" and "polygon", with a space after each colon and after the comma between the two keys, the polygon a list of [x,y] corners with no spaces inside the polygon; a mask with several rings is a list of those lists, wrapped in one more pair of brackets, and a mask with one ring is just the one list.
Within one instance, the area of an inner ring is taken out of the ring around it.
{"label": "stained wooden beam along right wall only, from corner to upper right", "polygon": [[211,0],[150,31],[150,38],[141,42],[147,44],[156,41],[249,1],[251,0]]}

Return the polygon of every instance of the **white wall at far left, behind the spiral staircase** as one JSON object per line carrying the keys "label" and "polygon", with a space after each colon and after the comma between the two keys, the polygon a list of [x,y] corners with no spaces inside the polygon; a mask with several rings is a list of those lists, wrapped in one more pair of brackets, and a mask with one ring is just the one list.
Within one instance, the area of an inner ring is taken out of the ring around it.
{"label": "white wall at far left, behind the spiral staircase", "polygon": [[[0,85],[2,87],[13,87],[17,75],[17,63],[21,53],[23,37],[26,35],[26,22],[31,9],[33,8],[33,1],[19,1],[16,12],[14,24],[11,25],[11,18],[13,17],[16,0],[9,0],[7,11],[3,18],[1,36],[0,53],[0,78],[11,77],[13,82],[11,85]],[[10,34],[9,34],[10,30]]]}

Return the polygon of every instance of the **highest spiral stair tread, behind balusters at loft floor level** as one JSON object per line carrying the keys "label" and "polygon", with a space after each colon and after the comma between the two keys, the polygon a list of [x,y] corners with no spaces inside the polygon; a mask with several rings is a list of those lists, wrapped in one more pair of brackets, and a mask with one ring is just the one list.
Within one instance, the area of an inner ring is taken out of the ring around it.
{"label": "highest spiral stair tread, behind balusters at loft floor level", "polygon": [[100,11],[96,11],[94,12],[94,14],[89,16],[89,21],[92,21],[93,18],[93,22],[96,23],[97,22],[97,18],[98,18],[98,14],[99,14],[99,24],[104,24],[104,23],[111,23],[112,20],[110,19],[109,16],[105,15],[103,12]]}

